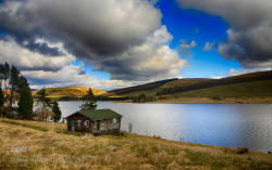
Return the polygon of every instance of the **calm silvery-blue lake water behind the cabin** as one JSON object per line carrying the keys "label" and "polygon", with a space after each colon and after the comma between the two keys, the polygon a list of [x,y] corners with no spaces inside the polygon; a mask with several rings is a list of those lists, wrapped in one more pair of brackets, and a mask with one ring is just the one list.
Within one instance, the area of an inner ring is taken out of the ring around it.
{"label": "calm silvery-blue lake water behind the cabin", "polygon": [[[60,102],[63,117],[83,102]],[[272,151],[272,104],[133,104],[98,102],[123,115],[121,129],[208,145]]]}

